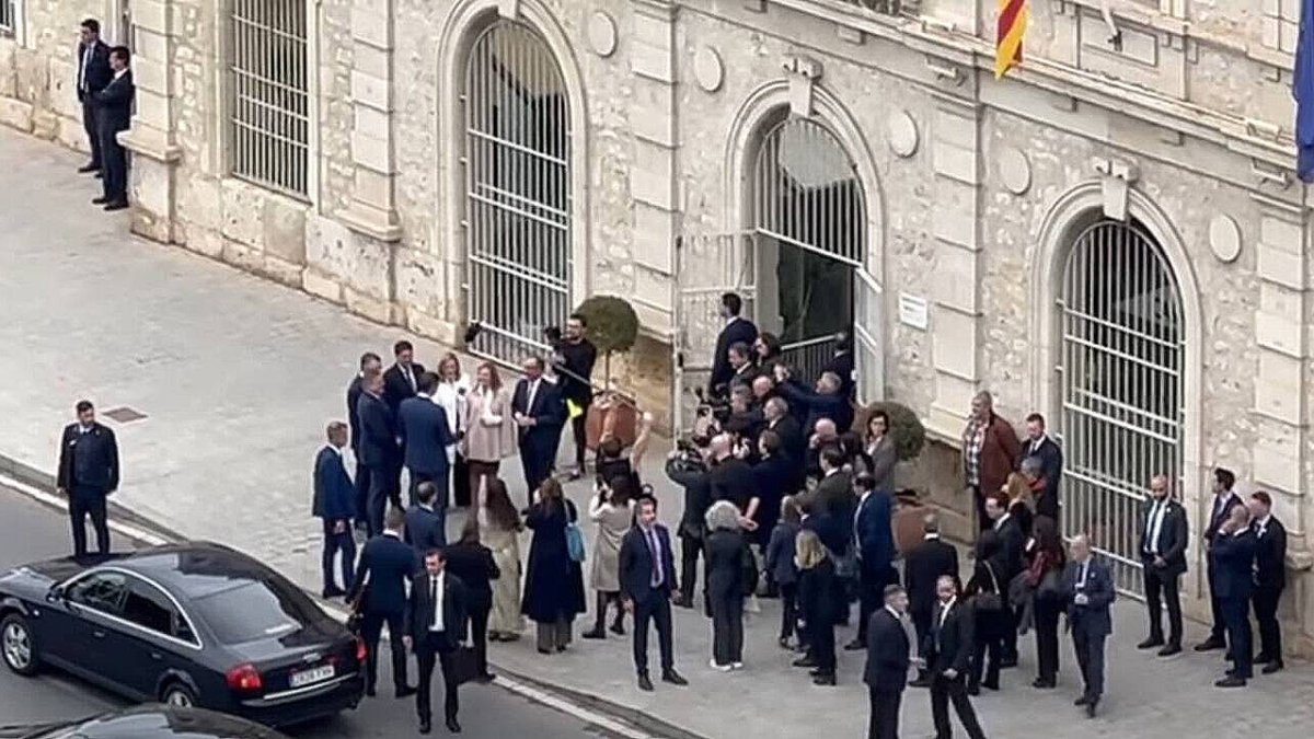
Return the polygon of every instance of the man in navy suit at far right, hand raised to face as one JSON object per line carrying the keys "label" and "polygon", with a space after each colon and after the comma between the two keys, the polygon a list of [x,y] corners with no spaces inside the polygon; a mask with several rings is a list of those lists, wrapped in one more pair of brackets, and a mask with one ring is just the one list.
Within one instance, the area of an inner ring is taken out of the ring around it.
{"label": "man in navy suit at far right, hand raised to face", "polygon": [[1218,688],[1242,688],[1254,677],[1254,639],[1250,631],[1250,598],[1255,594],[1255,531],[1250,509],[1233,506],[1209,547],[1214,565],[1213,594],[1223,611],[1233,668],[1214,682]]}

